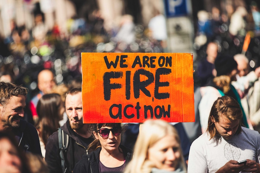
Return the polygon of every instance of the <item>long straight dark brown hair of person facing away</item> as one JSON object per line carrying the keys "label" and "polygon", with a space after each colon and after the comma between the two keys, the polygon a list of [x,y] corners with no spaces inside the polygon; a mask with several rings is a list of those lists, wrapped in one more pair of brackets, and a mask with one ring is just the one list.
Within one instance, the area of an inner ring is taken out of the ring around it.
{"label": "long straight dark brown hair of person facing away", "polygon": [[39,121],[35,127],[38,129],[44,145],[46,145],[49,136],[60,127],[61,104],[61,96],[56,93],[43,95],[37,103],[36,111]]}

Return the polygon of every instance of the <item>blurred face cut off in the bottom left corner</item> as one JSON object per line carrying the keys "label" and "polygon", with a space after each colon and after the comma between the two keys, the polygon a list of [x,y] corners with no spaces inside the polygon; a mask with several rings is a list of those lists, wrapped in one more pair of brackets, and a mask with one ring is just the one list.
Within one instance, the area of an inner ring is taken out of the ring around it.
{"label": "blurred face cut off in the bottom left corner", "polygon": [[22,164],[16,148],[7,138],[0,139],[0,172],[20,173]]}

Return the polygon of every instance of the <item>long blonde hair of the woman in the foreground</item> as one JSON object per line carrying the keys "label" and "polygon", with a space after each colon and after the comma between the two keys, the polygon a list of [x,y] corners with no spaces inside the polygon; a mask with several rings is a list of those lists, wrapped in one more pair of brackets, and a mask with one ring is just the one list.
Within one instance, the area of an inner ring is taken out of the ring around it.
{"label": "long blonde hair of the woman in the foreground", "polygon": [[[163,120],[145,121],[135,143],[133,158],[126,166],[124,173],[150,173],[155,166],[154,163],[147,159],[148,149],[166,135],[173,135],[180,144],[178,132],[168,122]],[[180,152],[181,159],[179,165],[185,168],[181,148]]]}

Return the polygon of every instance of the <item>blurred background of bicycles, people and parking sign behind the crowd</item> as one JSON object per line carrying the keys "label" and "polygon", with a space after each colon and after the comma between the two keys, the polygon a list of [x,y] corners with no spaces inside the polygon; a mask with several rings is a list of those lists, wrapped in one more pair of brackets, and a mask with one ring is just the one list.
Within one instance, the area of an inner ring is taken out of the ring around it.
{"label": "blurred background of bicycles, people and parking sign behind the crowd", "polygon": [[[193,53],[194,69],[209,42],[218,53],[246,54],[260,65],[260,1],[0,0],[0,70],[37,91],[37,74],[57,84],[81,75],[81,52]],[[196,80],[195,80],[196,82]]]}

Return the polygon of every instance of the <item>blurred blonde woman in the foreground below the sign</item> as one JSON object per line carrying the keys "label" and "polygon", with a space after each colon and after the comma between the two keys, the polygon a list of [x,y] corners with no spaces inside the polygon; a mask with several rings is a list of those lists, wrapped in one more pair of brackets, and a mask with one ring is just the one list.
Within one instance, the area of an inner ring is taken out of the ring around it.
{"label": "blurred blonde woman in the foreground below the sign", "polygon": [[132,160],[124,173],[186,173],[176,129],[163,120],[141,125]]}

